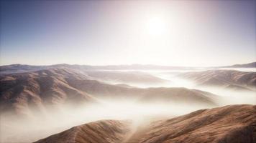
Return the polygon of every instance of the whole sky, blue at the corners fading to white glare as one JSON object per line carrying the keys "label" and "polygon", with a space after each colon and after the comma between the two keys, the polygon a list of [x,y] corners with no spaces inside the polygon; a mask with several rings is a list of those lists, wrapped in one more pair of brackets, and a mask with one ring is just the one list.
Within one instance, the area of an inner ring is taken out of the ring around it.
{"label": "whole sky, blue at the corners fading to white glare", "polygon": [[255,1],[1,1],[0,64],[256,61]]}

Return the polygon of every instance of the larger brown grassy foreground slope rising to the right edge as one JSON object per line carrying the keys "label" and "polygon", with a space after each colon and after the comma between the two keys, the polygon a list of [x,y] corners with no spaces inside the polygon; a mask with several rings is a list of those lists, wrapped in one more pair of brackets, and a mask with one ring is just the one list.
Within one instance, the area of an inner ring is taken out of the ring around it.
{"label": "larger brown grassy foreground slope rising to the right edge", "polygon": [[256,142],[256,106],[201,109],[151,126],[140,143],[253,143]]}

